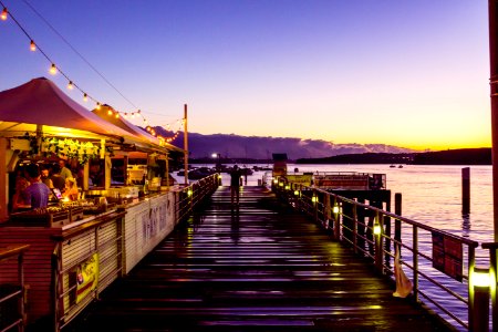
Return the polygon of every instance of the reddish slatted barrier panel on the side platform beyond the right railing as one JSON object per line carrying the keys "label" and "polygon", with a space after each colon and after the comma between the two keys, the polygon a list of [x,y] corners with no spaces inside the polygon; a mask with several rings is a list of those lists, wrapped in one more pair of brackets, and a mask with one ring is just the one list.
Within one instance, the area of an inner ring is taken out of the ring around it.
{"label": "reddish slatted barrier panel on the side platform beyond the right railing", "polygon": [[321,189],[367,190],[369,175],[363,174],[315,175],[314,186]]}

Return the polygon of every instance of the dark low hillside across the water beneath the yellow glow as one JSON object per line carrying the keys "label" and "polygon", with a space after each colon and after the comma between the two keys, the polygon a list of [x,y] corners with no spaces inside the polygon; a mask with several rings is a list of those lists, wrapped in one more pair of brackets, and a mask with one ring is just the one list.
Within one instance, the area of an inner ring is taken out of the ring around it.
{"label": "dark low hillside across the water beneath the yellow glow", "polygon": [[302,158],[298,164],[415,164],[415,165],[491,165],[491,148],[460,148],[426,153],[364,153]]}

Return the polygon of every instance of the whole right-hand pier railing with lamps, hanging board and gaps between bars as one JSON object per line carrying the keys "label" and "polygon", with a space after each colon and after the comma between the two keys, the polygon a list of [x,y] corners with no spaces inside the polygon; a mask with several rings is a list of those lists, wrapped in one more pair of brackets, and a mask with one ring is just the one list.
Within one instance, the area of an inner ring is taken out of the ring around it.
{"label": "whole right-hand pier railing with lamps, hanging board and gaps between bars", "polygon": [[378,273],[391,278],[393,288],[397,264],[411,279],[411,299],[425,303],[454,326],[488,331],[489,318],[483,322],[483,300],[475,288],[480,272],[476,268],[478,242],[283,177],[274,179],[272,188],[334,240],[351,246]]}

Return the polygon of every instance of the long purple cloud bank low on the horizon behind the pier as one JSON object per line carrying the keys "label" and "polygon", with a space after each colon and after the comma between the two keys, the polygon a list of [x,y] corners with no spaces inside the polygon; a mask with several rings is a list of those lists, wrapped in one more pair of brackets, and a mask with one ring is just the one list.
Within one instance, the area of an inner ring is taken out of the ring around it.
{"label": "long purple cloud bank low on the horizon behind the pier", "polygon": [[[166,137],[173,136],[173,133],[163,127],[155,127],[155,131]],[[184,146],[183,133],[179,133],[173,144],[178,147]],[[334,144],[321,139],[196,133],[188,134],[188,149],[191,158],[210,158],[214,153],[219,153],[222,158],[271,159],[273,153],[287,153],[292,160],[345,154],[412,152],[385,144]]]}

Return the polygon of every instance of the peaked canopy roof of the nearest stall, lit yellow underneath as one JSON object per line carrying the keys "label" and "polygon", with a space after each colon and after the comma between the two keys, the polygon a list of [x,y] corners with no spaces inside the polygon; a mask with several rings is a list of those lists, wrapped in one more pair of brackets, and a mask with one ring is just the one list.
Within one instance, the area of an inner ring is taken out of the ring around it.
{"label": "peaked canopy roof of the nearest stall, lit yellow underneath", "polygon": [[94,137],[93,133],[137,139],[73,101],[45,77],[0,92],[0,132],[19,135],[35,131],[35,125],[43,125],[44,133],[65,136]]}

